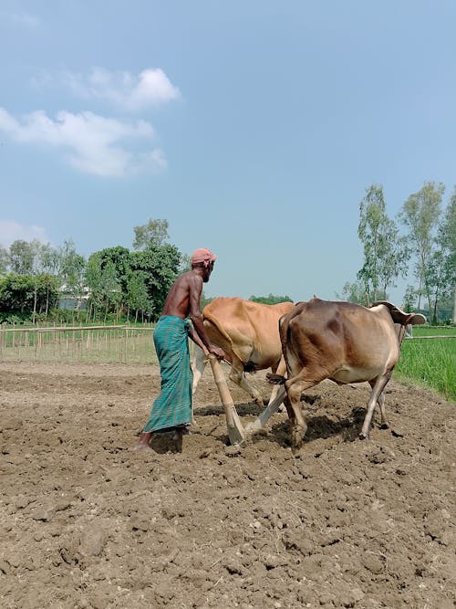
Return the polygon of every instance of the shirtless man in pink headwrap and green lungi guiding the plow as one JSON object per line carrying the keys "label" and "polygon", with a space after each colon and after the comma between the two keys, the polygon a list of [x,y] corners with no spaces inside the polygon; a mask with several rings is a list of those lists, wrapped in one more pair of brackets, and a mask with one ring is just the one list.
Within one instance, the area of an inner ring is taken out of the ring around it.
{"label": "shirtless man in pink headwrap and green lungi guiding the plow", "polygon": [[135,450],[150,448],[153,432],[174,431],[176,440],[188,433],[187,427],[192,424],[193,376],[188,337],[206,354],[213,353],[218,359],[224,357],[223,350],[209,341],[200,310],[202,284],[209,281],[215,258],[209,249],[193,252],[192,269],[176,279],[165,300],[153,332],[160,362],[161,394],[152,404]]}

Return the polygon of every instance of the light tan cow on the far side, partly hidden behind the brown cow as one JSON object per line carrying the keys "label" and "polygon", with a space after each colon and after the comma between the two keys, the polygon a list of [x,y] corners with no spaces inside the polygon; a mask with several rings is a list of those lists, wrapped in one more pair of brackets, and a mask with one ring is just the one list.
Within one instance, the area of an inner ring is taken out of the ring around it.
{"label": "light tan cow on the far side, partly hidden behind the brown cow", "polygon": [[[231,363],[229,378],[249,394],[257,404],[263,405],[260,392],[247,383],[245,373],[271,368],[273,373],[285,373],[282,345],[279,337],[279,319],[292,310],[293,302],[266,305],[238,297],[213,299],[202,310],[204,328],[209,340],[226,353]],[[195,347],[193,361],[193,394],[202,377],[206,358]],[[275,397],[277,388],[271,399]]]}

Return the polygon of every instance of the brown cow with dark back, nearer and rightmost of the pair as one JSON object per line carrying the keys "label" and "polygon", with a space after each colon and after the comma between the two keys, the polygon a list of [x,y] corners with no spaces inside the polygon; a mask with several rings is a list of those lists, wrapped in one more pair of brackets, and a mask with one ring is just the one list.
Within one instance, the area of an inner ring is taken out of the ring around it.
{"label": "brown cow with dark back, nearer and rightmost of the pair", "polygon": [[425,323],[416,313],[404,313],[393,304],[376,302],[370,309],[351,302],[312,299],[298,302],[279,321],[287,380],[268,375],[271,383],[284,383],[284,404],[292,425],[294,450],[302,445],[306,421],[300,407],[301,394],[325,379],[338,384],[362,383],[372,387],[361,438],[368,430],[375,405],[385,416],[386,384],[399,361],[405,326]]}

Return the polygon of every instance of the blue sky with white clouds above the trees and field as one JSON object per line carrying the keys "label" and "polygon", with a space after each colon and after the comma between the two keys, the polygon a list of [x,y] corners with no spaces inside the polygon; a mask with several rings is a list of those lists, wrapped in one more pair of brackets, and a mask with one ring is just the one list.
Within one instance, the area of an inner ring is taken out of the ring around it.
{"label": "blue sky with white clouds above the trees and field", "polygon": [[[337,299],[359,204],[456,184],[454,0],[0,0],[0,245],[217,255],[215,296]],[[400,304],[400,280],[389,299]]]}

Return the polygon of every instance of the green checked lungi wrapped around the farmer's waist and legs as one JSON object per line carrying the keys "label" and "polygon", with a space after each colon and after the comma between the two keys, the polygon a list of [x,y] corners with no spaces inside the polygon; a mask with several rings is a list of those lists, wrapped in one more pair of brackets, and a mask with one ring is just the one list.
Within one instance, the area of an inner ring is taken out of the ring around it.
{"label": "green checked lungi wrapped around the farmer's waist and legs", "polygon": [[178,425],[192,425],[190,322],[174,315],[161,316],[153,332],[160,362],[161,394],[154,401],[143,431],[166,432]]}

